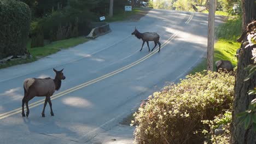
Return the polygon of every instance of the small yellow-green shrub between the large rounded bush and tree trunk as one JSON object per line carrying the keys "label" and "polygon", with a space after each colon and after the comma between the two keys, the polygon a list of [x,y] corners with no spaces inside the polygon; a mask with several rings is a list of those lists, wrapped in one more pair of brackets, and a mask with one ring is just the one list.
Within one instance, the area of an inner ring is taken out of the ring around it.
{"label": "small yellow-green shrub between the large rounded bush and tree trunk", "polygon": [[[206,137],[208,137],[208,142],[205,143],[213,143],[213,144],[226,144],[229,143],[230,140],[230,123],[231,123],[231,112],[226,111],[223,114],[220,114],[214,117],[213,121],[204,120],[202,121],[203,124],[207,124],[208,127],[204,129],[202,132],[205,133]],[[214,130],[222,129],[223,134],[216,135],[214,134]]]}

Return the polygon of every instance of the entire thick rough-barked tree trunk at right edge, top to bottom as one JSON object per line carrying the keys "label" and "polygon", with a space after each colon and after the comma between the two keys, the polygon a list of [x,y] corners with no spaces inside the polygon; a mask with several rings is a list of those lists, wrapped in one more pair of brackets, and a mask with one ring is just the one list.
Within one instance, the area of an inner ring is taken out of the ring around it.
{"label": "entire thick rough-barked tree trunk at right edge, top to bottom", "polygon": [[[242,0],[243,11],[243,29],[249,22],[256,19],[256,3],[255,1]],[[241,45],[240,57],[237,64],[237,76],[235,83],[235,95],[232,106],[232,123],[231,123],[231,142],[241,144],[256,143],[256,132],[253,127],[245,129],[245,125],[241,122],[242,119],[237,118],[237,113],[246,111],[251,100],[256,98],[256,95],[248,95],[248,91],[256,87],[256,75],[254,74],[250,80],[244,81],[248,76],[248,71],[245,68],[249,64],[253,64],[252,49],[253,46],[245,48],[248,41],[246,34],[243,34],[241,39],[243,45]]]}

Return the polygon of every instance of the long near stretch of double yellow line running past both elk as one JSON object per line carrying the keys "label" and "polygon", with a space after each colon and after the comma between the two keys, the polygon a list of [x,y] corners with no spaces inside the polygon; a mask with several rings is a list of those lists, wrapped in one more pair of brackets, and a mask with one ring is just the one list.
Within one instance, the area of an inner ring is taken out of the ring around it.
{"label": "long near stretch of double yellow line running past both elk", "polygon": [[[167,40],[165,41],[165,43],[162,44],[162,47],[165,47],[173,38],[176,37],[177,34],[178,34],[178,32],[174,33],[174,34],[172,35],[172,37],[170,37],[169,39],[167,39]],[[89,85],[91,85],[91,84],[93,84],[93,83],[95,83],[95,82],[98,82],[98,81],[107,79],[107,78],[110,77],[110,76],[113,76],[113,75],[115,75],[115,74],[120,73],[121,71],[124,71],[124,70],[126,70],[126,69],[129,69],[129,68],[133,67],[134,65],[137,65],[137,64],[139,64],[139,63],[145,61],[145,60],[148,59],[149,57],[153,56],[155,53],[157,53],[157,51],[158,51],[158,50],[156,49],[156,50],[154,50],[153,52],[149,53],[148,55],[142,57],[141,59],[138,59],[136,62],[133,62],[133,63],[131,63],[131,64],[129,64],[129,65],[126,65],[126,66],[123,67],[123,68],[120,68],[120,69],[118,69],[118,70],[112,71],[111,73],[108,73],[108,74],[106,74],[106,75],[97,77],[97,78],[94,79],[94,80],[91,80],[91,81],[82,83],[81,85],[78,85],[78,86],[69,88],[69,89],[67,89],[66,91],[63,91],[63,92],[54,94],[53,96],[51,96],[51,100],[57,99],[57,98],[59,98],[59,97],[62,97],[63,95],[66,95],[66,94],[68,94],[68,93],[77,91],[78,89],[81,89],[81,88],[83,88],[83,87],[89,86]],[[31,108],[36,107],[36,106],[41,105],[41,104],[44,104],[44,99],[38,100],[38,101],[36,101],[36,102],[30,104],[29,107],[30,107],[30,109],[31,109]],[[15,110],[12,110],[12,111],[9,111],[9,112],[2,113],[2,114],[0,115],[0,119],[3,119],[3,118],[5,118],[5,117],[9,117],[9,116],[15,115],[15,114],[17,114],[17,113],[21,113],[21,110],[22,110],[22,108],[20,107],[19,109],[15,109]]]}

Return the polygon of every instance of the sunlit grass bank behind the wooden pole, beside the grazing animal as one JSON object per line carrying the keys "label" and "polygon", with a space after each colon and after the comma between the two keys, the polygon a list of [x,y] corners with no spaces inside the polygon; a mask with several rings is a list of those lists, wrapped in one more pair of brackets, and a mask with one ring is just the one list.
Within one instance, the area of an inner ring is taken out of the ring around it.
{"label": "sunlit grass bank behind the wooden pole, beside the grazing animal", "polygon": [[[241,34],[241,27],[241,17],[233,17],[217,28],[216,35],[218,41],[214,44],[214,65],[218,60],[228,60],[234,67],[237,65],[237,59],[234,55],[241,45],[236,42],[236,39]],[[201,72],[207,68],[206,65],[206,58],[203,58],[202,62],[194,67],[189,73],[195,74],[196,72]],[[216,70],[215,66],[213,68]]]}

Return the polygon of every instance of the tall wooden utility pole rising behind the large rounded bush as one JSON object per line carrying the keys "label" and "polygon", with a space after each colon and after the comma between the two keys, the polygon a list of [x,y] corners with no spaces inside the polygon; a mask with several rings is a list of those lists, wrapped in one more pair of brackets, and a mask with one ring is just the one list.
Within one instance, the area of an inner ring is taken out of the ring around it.
{"label": "tall wooden utility pole rising behind the large rounded bush", "polygon": [[213,71],[215,1],[210,0],[208,15],[207,70]]}

